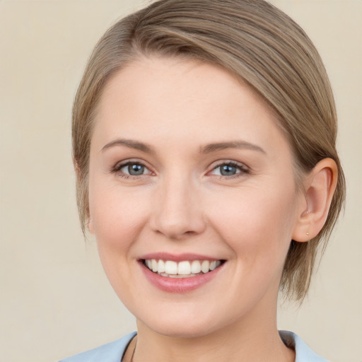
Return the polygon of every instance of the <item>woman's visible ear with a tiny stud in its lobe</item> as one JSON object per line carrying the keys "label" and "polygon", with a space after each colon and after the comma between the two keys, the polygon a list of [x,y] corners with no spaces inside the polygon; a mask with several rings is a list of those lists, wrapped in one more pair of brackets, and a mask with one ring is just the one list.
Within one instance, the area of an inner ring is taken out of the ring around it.
{"label": "woman's visible ear with a tiny stud in its lobe", "polygon": [[324,158],[303,182],[305,193],[293,228],[293,240],[305,242],[315,238],[327,220],[337,185],[338,169],[332,158]]}

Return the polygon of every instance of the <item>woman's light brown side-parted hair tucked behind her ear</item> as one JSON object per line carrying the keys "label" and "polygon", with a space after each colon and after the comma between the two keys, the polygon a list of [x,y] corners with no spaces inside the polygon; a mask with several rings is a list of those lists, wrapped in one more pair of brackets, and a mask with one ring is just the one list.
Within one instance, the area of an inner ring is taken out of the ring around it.
{"label": "woman's light brown side-parted hair tucked behind her ear", "polygon": [[325,67],[313,43],[291,18],[264,0],[160,0],[118,21],[103,35],[88,61],[73,109],[83,233],[89,216],[91,136],[103,89],[129,62],[153,54],[209,62],[246,82],[276,113],[294,153],[296,175],[308,173],[323,158],[337,163],[337,189],[325,226],[308,243],[292,240],[284,265],[281,290],[303,300],[317,250],[324,250],[344,205],[344,173],[336,151],[337,115]]}

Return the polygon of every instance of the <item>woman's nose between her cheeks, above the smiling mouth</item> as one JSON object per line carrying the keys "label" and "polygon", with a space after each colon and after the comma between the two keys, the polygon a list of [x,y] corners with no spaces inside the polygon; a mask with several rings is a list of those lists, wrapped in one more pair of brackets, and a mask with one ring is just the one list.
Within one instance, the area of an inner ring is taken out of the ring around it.
{"label": "woman's nose between her cheeks, above the smiling mouth", "polygon": [[151,226],[172,240],[198,235],[206,228],[197,186],[187,177],[174,175],[161,182],[155,193]]}

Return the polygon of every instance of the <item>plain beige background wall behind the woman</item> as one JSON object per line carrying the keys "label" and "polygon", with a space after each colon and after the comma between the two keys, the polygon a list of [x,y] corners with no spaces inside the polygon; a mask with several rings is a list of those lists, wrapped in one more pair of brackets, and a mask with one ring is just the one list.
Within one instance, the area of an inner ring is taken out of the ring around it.
{"label": "plain beige background wall behind the woman", "polygon": [[[134,330],[78,226],[71,103],[98,37],[141,0],[0,1],[0,361],[45,362]],[[305,28],[337,98],[344,218],[308,300],[279,327],[335,362],[361,362],[362,1],[274,0]]]}

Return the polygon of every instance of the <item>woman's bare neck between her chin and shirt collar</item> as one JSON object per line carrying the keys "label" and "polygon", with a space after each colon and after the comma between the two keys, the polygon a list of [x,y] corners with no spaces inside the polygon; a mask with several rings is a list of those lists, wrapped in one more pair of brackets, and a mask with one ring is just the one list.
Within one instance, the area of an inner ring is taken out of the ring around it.
{"label": "woman's bare neck between her chin and shirt collar", "polygon": [[133,361],[293,362],[295,353],[284,345],[276,328],[276,310],[267,314],[255,311],[255,315],[197,337],[165,336],[137,321]]}

